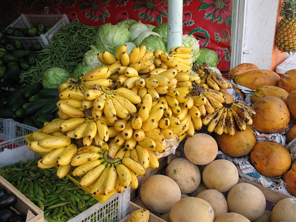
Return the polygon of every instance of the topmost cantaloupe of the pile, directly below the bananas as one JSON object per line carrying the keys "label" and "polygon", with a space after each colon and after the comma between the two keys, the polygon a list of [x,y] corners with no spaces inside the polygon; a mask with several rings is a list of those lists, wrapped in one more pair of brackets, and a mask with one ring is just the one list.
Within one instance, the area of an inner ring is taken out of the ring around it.
{"label": "topmost cantaloupe of the pile, directly below the bananas", "polygon": [[190,136],[184,144],[186,158],[194,164],[206,165],[217,156],[218,145],[215,139],[205,133],[197,133]]}

